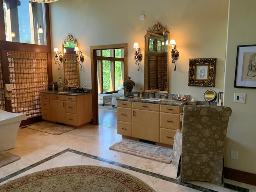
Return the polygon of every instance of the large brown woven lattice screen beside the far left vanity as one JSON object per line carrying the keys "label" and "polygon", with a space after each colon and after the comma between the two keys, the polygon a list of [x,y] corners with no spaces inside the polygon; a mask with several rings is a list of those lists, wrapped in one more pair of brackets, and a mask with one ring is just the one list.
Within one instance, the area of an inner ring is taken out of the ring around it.
{"label": "large brown woven lattice screen beside the far left vanity", "polygon": [[41,115],[39,92],[48,90],[47,62],[46,53],[8,51],[12,112]]}

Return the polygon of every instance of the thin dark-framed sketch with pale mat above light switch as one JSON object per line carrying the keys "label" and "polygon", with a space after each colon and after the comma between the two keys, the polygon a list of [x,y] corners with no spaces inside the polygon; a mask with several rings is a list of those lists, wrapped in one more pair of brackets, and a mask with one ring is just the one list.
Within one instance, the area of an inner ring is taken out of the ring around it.
{"label": "thin dark-framed sketch with pale mat above light switch", "polygon": [[234,87],[256,88],[256,45],[238,45]]}

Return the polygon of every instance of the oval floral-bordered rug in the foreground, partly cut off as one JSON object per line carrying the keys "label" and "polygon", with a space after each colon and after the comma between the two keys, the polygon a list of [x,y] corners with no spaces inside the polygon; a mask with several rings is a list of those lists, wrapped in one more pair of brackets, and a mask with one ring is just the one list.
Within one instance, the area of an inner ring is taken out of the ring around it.
{"label": "oval floral-bordered rug in the foreground, partly cut off", "polygon": [[142,180],[120,170],[101,166],[51,168],[17,178],[0,191],[49,192],[155,192]]}

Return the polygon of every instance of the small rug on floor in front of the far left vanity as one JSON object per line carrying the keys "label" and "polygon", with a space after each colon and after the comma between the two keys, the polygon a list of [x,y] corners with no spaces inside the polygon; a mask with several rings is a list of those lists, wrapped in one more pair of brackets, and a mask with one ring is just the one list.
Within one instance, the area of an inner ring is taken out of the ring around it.
{"label": "small rug on floor in front of the far left vanity", "polygon": [[74,127],[68,127],[68,126],[59,125],[56,123],[44,122],[44,121],[32,124],[30,126],[27,126],[26,128],[53,134],[53,135],[60,135],[62,133],[66,133],[68,131],[75,129]]}

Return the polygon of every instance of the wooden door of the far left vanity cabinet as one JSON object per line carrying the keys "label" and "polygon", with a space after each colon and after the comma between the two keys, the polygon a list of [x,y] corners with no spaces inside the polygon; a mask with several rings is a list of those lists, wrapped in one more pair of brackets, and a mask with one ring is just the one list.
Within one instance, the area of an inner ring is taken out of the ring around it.
{"label": "wooden door of the far left vanity cabinet", "polygon": [[66,123],[65,101],[50,99],[51,120],[59,123]]}

